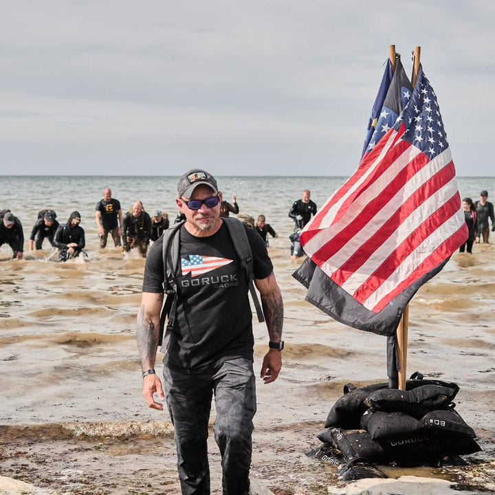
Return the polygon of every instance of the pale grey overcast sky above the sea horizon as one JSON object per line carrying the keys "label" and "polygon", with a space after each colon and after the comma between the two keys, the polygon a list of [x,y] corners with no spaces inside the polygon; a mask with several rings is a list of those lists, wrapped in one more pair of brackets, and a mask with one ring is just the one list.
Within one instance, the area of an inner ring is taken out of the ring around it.
{"label": "pale grey overcast sky above the sea horizon", "polygon": [[[495,175],[495,3],[0,0],[0,172],[350,175],[421,45],[458,175]],[[1,179],[0,179],[1,180]]]}

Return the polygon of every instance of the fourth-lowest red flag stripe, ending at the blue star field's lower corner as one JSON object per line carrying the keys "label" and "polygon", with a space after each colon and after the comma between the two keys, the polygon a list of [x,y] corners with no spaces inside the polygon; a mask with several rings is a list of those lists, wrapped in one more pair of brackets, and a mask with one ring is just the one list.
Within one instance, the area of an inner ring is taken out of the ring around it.
{"label": "fourth-lowest red flag stripe, ending at the blue star field's lower corner", "polygon": [[[405,142],[405,141],[403,141]],[[406,142],[406,144],[408,144]],[[408,144],[410,146],[410,144]],[[404,150],[402,151],[404,153]],[[359,217],[355,219],[355,221],[346,225],[336,236],[333,236],[332,239],[329,239],[327,243],[322,245],[322,247],[317,250],[312,256],[311,259],[318,265],[321,266],[325,261],[327,261],[331,256],[336,254],[343,245],[347,244],[349,239],[351,239],[355,234],[360,232],[364,226],[369,223],[375,217],[375,214],[382,210],[383,205],[387,203],[389,199],[397,194],[397,191],[401,189],[406,182],[413,177],[418,170],[421,170],[426,164],[429,163],[429,159],[423,153],[419,153],[415,158],[409,162],[407,166],[402,168],[400,172],[392,179],[391,182],[384,188],[382,194],[373,198],[364,208],[362,208],[362,212],[359,214]],[[381,166],[381,165],[380,165]],[[390,164],[386,164],[386,166],[390,166]],[[380,174],[382,175],[382,174]]]}

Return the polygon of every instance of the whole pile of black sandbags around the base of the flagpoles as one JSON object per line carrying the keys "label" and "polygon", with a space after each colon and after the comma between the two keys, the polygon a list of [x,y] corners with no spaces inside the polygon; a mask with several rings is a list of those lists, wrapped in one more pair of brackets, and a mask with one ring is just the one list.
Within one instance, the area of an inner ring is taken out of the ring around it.
{"label": "whole pile of black sandbags around the base of the flagpoles", "polygon": [[323,444],[307,455],[340,465],[347,480],[386,477],[372,464],[459,465],[459,455],[481,448],[455,410],[458,391],[440,380],[408,380],[406,391],[347,384],[318,434]]}

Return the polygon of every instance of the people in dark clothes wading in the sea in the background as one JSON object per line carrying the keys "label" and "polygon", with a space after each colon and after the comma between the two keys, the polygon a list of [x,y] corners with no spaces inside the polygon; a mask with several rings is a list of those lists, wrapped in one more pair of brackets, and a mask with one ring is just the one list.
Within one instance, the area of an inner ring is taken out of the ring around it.
{"label": "people in dark clothes wading in the sea in the background", "polygon": [[[492,232],[495,231],[494,206],[487,201],[488,192],[482,190],[479,201],[471,198],[463,199],[462,205],[465,221],[469,230],[469,238],[461,248],[460,252],[472,252],[474,242],[488,243],[489,221],[492,223]],[[291,256],[296,259],[303,256],[303,248],[299,241],[299,232],[316,214],[316,204],[311,201],[311,192],[305,189],[303,195],[294,201],[289,210],[289,217],[294,220],[294,232],[289,236],[292,243]],[[236,196],[232,196],[232,203],[221,202],[220,216],[228,217],[230,213],[239,214],[239,204]],[[170,226],[168,214],[160,210],[153,212],[150,216],[143,208],[141,201],[135,201],[133,206],[125,214],[122,214],[120,201],[111,195],[111,189],[103,191],[102,199],[96,204],[96,224],[100,238],[100,248],[107,246],[109,234],[113,239],[115,247],[122,246],[124,252],[137,249],[141,256],[146,257],[148,246],[159,239],[164,230]],[[239,218],[258,232],[265,244],[268,245],[268,234],[278,237],[270,223],[266,222],[263,214],[256,221],[250,215],[240,214]],[[4,243],[12,248],[13,258],[22,258],[24,247],[24,234],[21,221],[14,217],[10,210],[0,211],[0,246]],[[177,215],[174,223],[183,220],[181,214]],[[75,258],[84,252],[85,231],[80,226],[80,214],[74,211],[65,223],[58,223],[54,210],[41,210],[34,223],[29,240],[29,250],[41,250],[43,241],[47,239],[50,244],[58,249],[58,259],[66,261]]]}

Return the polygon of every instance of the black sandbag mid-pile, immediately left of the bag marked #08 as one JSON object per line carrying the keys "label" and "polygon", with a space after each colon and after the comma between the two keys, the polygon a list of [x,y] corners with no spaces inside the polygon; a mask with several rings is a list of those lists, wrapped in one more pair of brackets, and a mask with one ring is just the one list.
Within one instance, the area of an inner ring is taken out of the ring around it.
{"label": "black sandbag mid-pile, immediately left of the bag marked #08", "polygon": [[425,426],[418,419],[404,412],[366,410],[361,417],[361,428],[369,432],[371,439],[395,439],[423,432]]}

